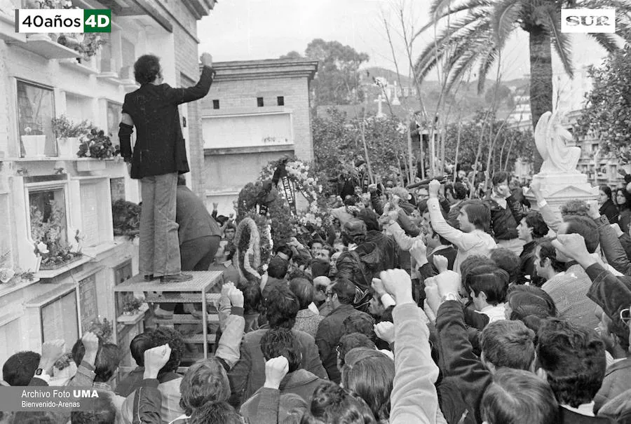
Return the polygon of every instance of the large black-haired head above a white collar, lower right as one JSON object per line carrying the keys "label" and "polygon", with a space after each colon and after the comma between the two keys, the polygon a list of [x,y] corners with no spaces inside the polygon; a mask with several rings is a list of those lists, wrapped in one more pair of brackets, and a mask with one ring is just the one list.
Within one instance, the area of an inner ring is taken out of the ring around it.
{"label": "large black-haired head above a white collar, lower right", "polygon": [[592,402],[602,385],[604,343],[593,329],[550,318],[539,328],[537,366],[559,404],[578,408]]}

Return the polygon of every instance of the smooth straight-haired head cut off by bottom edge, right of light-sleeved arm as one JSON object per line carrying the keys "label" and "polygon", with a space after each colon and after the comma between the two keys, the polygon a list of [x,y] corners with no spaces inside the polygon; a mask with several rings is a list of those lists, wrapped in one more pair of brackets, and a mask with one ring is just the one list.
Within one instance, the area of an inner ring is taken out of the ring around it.
{"label": "smooth straight-haired head cut off by bottom edge, right of light-sleeved arm", "polygon": [[480,404],[487,424],[556,424],[558,413],[550,385],[521,369],[498,369]]}

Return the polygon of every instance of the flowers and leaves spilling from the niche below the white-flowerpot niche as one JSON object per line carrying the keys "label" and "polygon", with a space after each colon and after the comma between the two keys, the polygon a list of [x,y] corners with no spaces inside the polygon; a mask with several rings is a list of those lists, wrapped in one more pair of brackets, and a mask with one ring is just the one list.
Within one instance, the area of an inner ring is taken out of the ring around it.
{"label": "flowers and leaves spilling from the niche below the white-flowerpot niche", "polygon": [[34,253],[41,257],[41,268],[50,269],[79,259],[81,254],[81,232],[76,231],[74,241],[62,241],[62,219],[65,213],[54,200],[50,201],[50,216],[43,220],[43,213],[31,206],[31,237],[34,240]]}

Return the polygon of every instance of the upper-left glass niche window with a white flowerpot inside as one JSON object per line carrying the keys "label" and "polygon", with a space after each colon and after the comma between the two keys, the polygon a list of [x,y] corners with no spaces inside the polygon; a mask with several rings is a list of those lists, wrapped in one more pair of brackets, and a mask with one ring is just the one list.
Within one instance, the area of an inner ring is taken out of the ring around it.
{"label": "upper-left glass niche window with a white flowerpot inside", "polygon": [[18,80],[20,157],[57,156],[53,90]]}

